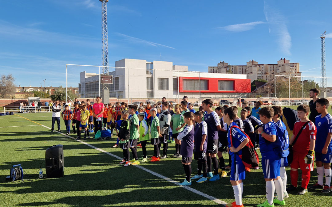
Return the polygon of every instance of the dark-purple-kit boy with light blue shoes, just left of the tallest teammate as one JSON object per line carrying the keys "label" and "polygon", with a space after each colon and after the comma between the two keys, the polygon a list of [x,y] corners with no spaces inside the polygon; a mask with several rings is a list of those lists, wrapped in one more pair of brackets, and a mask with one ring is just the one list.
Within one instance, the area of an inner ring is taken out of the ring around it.
{"label": "dark-purple-kit boy with light blue shoes, just left of the tallest teammate", "polygon": [[[197,175],[191,179],[199,179],[196,182],[207,181],[207,123],[202,120],[203,113],[198,111],[194,113],[194,120],[197,123],[195,125],[195,153],[194,159],[197,160]],[[203,167],[203,175],[202,175]]]}

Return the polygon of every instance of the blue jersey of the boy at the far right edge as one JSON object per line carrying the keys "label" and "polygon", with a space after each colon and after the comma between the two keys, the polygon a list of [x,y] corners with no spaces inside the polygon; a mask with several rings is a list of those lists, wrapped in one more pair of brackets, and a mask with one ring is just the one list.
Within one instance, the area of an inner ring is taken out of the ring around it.
{"label": "blue jersey of the boy at the far right edge", "polygon": [[[321,117],[321,115],[316,116],[315,125],[317,128],[315,151],[322,152],[327,133],[332,133],[332,116],[330,114],[327,114],[325,117]],[[332,141],[327,148],[327,153],[332,154]]]}

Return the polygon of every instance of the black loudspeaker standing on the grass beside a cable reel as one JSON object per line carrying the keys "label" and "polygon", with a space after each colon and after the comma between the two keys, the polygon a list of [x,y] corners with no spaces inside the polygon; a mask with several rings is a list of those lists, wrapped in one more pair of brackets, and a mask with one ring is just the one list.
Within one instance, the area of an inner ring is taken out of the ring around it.
{"label": "black loudspeaker standing on the grass beside a cable reel", "polygon": [[63,176],[63,145],[48,147],[45,152],[46,174],[48,178]]}

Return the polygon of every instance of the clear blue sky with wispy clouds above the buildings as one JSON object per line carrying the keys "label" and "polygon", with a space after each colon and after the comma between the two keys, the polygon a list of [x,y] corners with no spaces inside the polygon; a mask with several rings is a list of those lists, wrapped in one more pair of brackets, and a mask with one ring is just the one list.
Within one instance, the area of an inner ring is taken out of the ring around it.
{"label": "clear blue sky with wispy clouds above the buildings", "polygon": [[[331,1],[115,1],[107,3],[109,66],[123,58],[171,61],[207,72],[219,61],[245,65],[299,62],[320,76],[327,30],[332,77]],[[21,86],[65,86],[65,64],[101,65],[99,0],[2,1],[0,74]],[[77,86],[83,68],[70,68]],[[94,72],[92,69],[89,72]],[[330,86],[330,85],[329,85]]]}

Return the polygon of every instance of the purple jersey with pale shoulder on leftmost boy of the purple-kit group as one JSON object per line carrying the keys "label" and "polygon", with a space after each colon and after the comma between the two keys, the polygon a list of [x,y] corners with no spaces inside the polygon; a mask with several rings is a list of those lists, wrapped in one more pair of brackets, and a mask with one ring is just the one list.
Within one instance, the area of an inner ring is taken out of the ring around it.
{"label": "purple jersey with pale shoulder on leftmost boy of the purple-kit group", "polygon": [[182,157],[193,157],[194,151],[194,125],[187,125],[178,135],[181,141]]}

